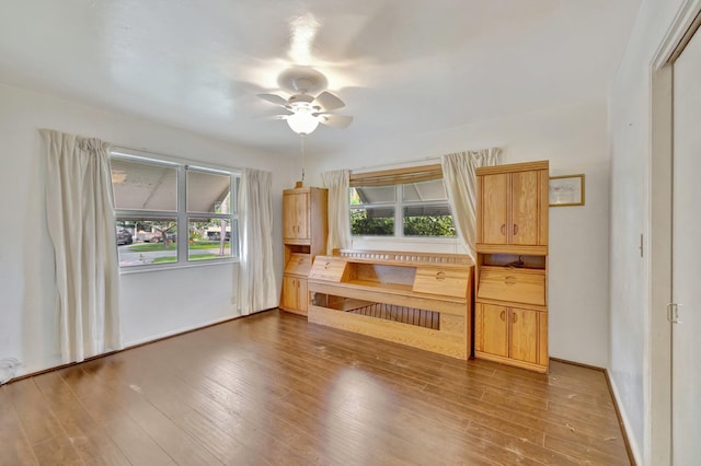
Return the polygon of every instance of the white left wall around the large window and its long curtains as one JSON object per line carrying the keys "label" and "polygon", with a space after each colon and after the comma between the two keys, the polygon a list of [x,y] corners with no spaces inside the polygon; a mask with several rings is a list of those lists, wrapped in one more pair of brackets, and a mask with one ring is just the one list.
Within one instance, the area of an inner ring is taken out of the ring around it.
{"label": "white left wall around the large window and its long curtains", "polygon": [[[233,168],[273,172],[275,273],[281,277],[281,190],[297,167],[252,148],[157,125],[67,100],[0,85],[0,359],[23,362],[18,375],[60,363],[54,352],[54,259],[46,231],[38,128],[95,137]],[[232,298],[235,264],[205,265],[120,277],[126,345],[199,327],[237,315]],[[278,283],[278,288],[279,288]]]}

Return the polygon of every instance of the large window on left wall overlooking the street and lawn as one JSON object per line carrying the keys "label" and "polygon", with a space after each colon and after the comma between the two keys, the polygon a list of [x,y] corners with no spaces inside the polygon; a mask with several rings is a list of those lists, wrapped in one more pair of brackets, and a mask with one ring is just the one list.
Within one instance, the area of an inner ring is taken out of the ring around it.
{"label": "large window on left wall overlooking the street and lawn", "polygon": [[234,173],[113,153],[120,267],[238,255]]}

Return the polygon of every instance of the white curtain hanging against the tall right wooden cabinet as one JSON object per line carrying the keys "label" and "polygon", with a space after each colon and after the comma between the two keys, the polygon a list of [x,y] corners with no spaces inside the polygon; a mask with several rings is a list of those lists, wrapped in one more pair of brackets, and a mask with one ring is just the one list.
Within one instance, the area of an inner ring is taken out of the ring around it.
{"label": "white curtain hanging against the tall right wooden cabinet", "polygon": [[456,232],[473,260],[475,259],[478,201],[475,172],[480,166],[497,165],[501,152],[501,149],[492,148],[458,152],[440,158],[443,179],[448,191]]}

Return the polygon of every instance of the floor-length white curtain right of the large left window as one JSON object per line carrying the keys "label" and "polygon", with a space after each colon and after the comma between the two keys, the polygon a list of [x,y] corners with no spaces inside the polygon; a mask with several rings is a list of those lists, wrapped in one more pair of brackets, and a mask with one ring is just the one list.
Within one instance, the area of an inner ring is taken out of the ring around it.
{"label": "floor-length white curtain right of the large left window", "polygon": [[277,306],[273,265],[273,175],[244,170],[239,186],[239,310],[242,315]]}

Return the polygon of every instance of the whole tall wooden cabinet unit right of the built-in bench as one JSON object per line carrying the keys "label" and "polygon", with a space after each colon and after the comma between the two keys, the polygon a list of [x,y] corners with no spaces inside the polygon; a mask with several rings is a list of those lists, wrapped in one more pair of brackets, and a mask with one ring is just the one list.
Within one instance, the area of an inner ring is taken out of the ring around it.
{"label": "whole tall wooden cabinet unit right of the built-in bench", "polygon": [[548,372],[549,163],[476,175],[474,356]]}

